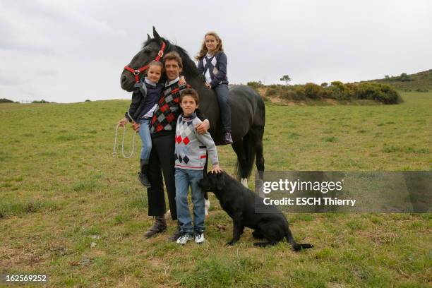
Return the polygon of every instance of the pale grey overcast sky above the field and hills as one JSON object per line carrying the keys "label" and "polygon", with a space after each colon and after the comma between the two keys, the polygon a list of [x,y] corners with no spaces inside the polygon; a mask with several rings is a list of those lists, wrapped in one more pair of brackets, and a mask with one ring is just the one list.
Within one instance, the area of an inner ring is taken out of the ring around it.
{"label": "pale grey overcast sky above the field and hills", "polygon": [[224,41],[230,83],[357,81],[432,68],[430,0],[0,0],[0,98],[129,99],[120,74],[152,32],[195,56]]}

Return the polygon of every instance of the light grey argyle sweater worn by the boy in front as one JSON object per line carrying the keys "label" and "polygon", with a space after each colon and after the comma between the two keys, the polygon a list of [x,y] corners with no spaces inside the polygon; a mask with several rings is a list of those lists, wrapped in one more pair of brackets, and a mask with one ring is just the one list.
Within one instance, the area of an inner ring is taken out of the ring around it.
{"label": "light grey argyle sweater worn by the boy in front", "polygon": [[212,160],[212,164],[219,164],[215,142],[210,133],[199,134],[195,126],[201,121],[196,113],[191,116],[180,115],[176,126],[176,145],[174,159],[176,168],[203,170],[207,156]]}

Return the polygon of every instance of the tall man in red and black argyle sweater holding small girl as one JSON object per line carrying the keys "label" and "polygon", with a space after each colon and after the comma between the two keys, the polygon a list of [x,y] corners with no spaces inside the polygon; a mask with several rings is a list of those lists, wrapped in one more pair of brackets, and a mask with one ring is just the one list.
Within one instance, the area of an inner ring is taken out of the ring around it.
{"label": "tall man in red and black argyle sweater holding small girl", "polygon": [[[152,151],[148,167],[148,179],[151,187],[147,189],[148,196],[148,215],[155,216],[153,224],[144,236],[149,238],[157,233],[164,232],[167,229],[167,223],[164,219],[165,197],[162,182],[162,173],[164,175],[165,186],[167,187],[169,210],[172,220],[177,220],[176,212],[176,185],[174,180],[174,143],[176,133],[177,116],[181,113],[179,107],[179,96],[181,90],[187,88],[187,85],[179,85],[179,76],[183,63],[179,54],[169,52],[163,58],[165,72],[167,74],[167,83],[165,83],[164,92],[157,104],[152,121],[150,122],[150,133],[152,133]],[[198,125],[198,133],[205,133],[210,128],[209,121],[197,111],[197,116],[203,121]],[[134,129],[139,128],[136,124]],[[176,231],[170,237],[170,240],[176,241],[180,236],[180,224],[178,223]]]}

